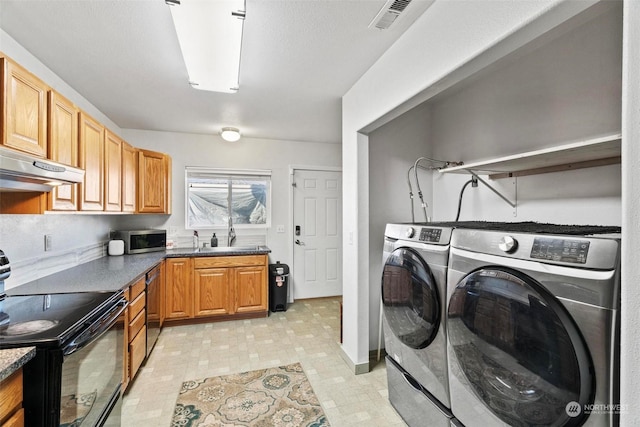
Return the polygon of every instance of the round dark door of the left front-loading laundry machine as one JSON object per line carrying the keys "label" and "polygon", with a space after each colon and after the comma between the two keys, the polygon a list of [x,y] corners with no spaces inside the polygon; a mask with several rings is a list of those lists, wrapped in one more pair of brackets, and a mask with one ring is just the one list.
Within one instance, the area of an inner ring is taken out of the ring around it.
{"label": "round dark door of the left front-loading laundry machine", "polygon": [[382,303],[389,327],[405,345],[422,349],[436,336],[440,299],[433,274],[413,249],[398,248],[382,271]]}

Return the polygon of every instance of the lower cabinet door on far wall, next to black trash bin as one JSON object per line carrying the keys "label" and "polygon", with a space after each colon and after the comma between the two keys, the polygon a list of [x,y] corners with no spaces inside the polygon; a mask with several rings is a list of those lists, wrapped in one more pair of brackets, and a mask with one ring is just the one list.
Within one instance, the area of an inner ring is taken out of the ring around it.
{"label": "lower cabinet door on far wall, next to black trash bin", "polygon": [[236,267],[235,312],[248,313],[267,310],[267,269],[266,267]]}

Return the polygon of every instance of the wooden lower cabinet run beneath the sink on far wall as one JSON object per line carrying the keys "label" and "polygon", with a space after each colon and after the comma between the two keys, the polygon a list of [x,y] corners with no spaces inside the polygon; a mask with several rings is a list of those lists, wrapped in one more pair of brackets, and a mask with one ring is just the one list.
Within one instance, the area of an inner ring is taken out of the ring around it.
{"label": "wooden lower cabinet run beneath the sink on far wall", "polygon": [[268,313],[267,255],[167,258],[166,321]]}

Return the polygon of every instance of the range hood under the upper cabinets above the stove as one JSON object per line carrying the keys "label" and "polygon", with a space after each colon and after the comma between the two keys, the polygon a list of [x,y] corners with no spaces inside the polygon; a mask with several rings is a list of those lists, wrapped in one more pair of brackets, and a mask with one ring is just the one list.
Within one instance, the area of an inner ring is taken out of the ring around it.
{"label": "range hood under the upper cabinets above the stove", "polygon": [[82,169],[0,146],[0,191],[51,191],[83,179]]}

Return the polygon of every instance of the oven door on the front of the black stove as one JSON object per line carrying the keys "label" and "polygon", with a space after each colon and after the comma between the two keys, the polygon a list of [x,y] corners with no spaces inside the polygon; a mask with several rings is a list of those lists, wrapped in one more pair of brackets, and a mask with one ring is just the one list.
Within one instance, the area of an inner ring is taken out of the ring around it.
{"label": "oven door on the front of the black stove", "polygon": [[124,331],[117,319],[126,304],[118,302],[64,346],[60,426],[103,426],[118,408]]}

